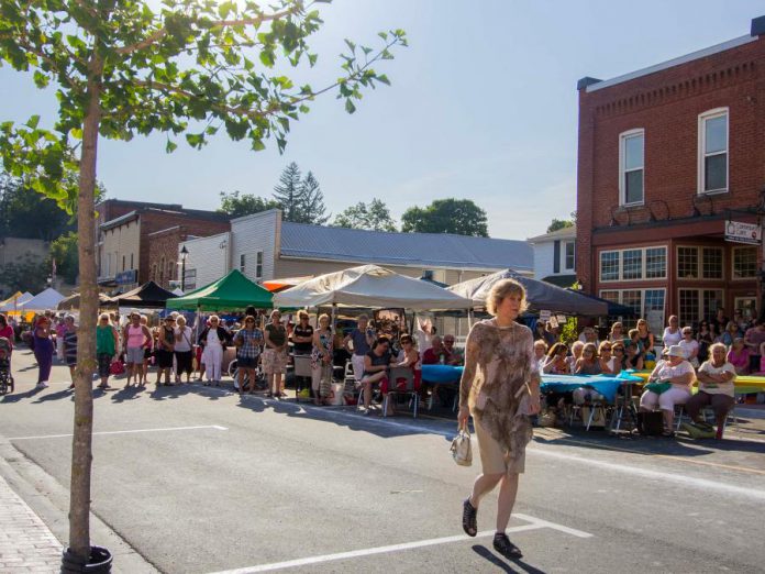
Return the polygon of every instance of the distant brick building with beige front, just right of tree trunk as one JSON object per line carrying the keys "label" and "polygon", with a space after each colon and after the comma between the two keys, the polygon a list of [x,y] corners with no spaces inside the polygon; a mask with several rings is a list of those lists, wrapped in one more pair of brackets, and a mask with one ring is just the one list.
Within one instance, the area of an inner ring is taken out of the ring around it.
{"label": "distant brick building with beige front, just right of tree trunk", "polygon": [[108,199],[96,210],[99,285],[121,290],[149,279],[167,288],[181,241],[230,229],[226,214],[179,205]]}

